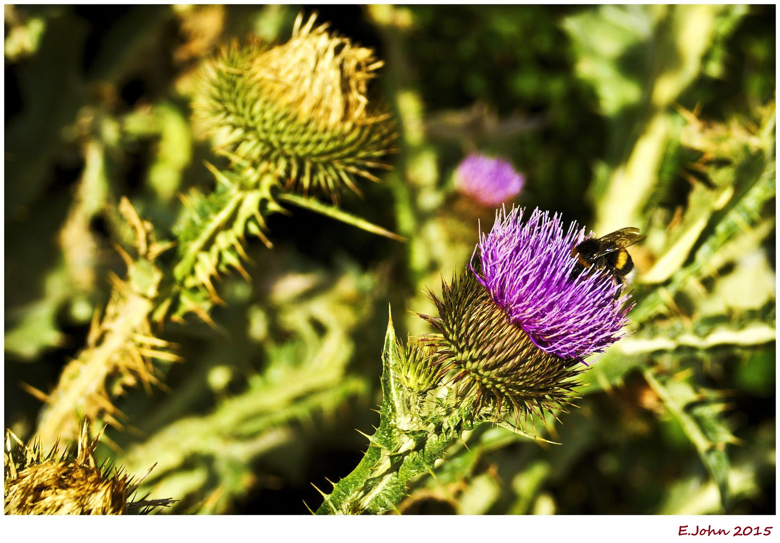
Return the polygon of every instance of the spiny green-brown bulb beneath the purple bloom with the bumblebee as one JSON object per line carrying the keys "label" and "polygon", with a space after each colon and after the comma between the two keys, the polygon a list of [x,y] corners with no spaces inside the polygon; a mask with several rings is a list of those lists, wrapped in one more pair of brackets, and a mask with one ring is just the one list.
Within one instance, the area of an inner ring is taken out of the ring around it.
{"label": "spiny green-brown bulb beneath the purple bloom with the bumblebee", "polygon": [[516,421],[569,403],[576,361],[542,351],[494,301],[470,271],[442,283],[439,316],[421,317],[441,334],[441,373],[452,372],[459,397],[473,413],[511,413]]}

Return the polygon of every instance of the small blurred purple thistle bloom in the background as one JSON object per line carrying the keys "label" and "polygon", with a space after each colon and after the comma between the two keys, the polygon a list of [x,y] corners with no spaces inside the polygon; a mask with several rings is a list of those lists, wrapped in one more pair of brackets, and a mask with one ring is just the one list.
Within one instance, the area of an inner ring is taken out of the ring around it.
{"label": "small blurred purple thistle bloom in the background", "polygon": [[498,206],[523,189],[520,175],[506,160],[470,154],[456,170],[456,189],[485,206]]}

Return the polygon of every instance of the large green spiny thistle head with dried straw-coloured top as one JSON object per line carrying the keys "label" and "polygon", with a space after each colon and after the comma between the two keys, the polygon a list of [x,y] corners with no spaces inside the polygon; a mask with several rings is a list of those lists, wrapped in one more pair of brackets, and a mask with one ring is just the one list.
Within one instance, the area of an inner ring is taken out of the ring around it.
{"label": "large green spiny thistle head with dried straw-coloured top", "polygon": [[285,44],[223,48],[205,65],[193,108],[234,163],[270,171],[287,190],[335,198],[345,186],[359,192],[355,176],[377,180],[369,170],[386,167],[395,132],[367,99],[382,62],[314,20],[299,15]]}

